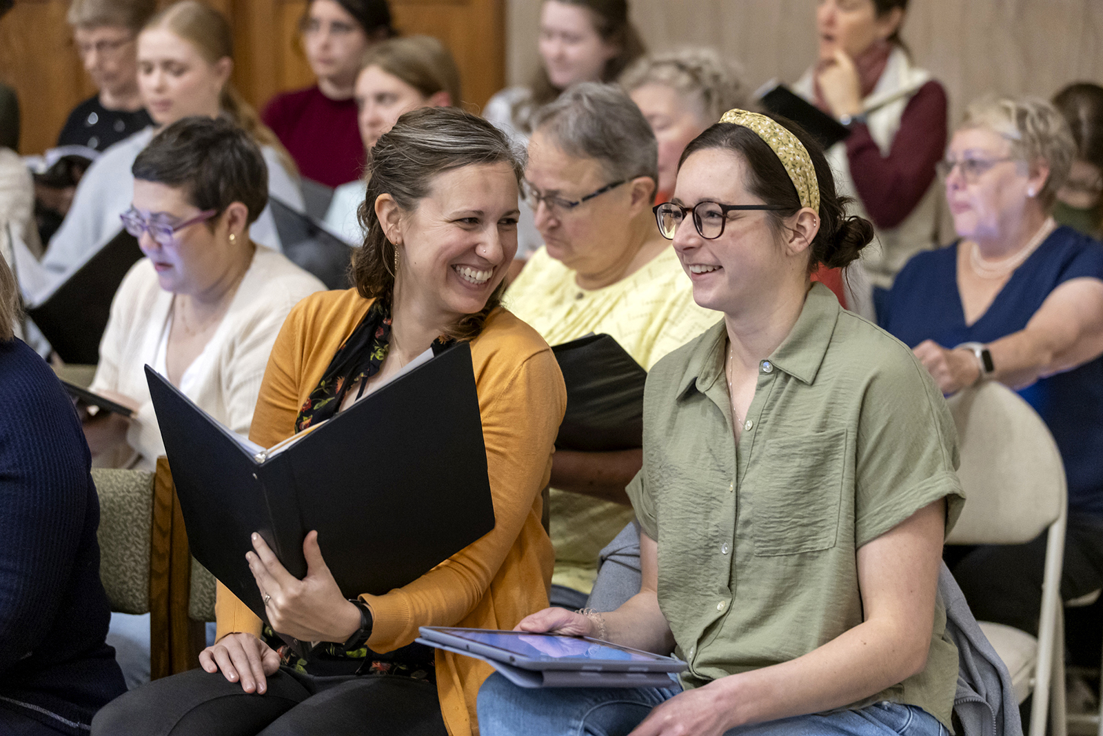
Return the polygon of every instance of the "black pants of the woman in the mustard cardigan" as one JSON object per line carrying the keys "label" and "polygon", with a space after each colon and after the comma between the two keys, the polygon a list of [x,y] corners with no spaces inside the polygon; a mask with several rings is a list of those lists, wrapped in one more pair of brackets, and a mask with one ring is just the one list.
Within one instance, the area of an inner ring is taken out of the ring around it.
{"label": "black pants of the woman in the mustard cardigan", "polygon": [[432,683],[390,675],[317,678],[281,668],[264,695],[222,673],[156,680],[105,706],[96,736],[447,736]]}

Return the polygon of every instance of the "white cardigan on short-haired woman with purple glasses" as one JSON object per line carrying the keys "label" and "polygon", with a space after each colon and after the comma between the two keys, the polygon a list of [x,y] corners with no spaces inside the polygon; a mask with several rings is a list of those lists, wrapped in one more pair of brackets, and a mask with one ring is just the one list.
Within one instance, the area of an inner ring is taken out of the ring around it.
{"label": "white cardigan on short-haired woman with purple glasses", "polygon": [[[268,354],[285,318],[299,300],[324,289],[283,255],[258,246],[222,323],[188,369],[188,397],[232,431],[248,435]],[[140,456],[137,467],[146,470],[156,467],[164,445],[144,365],[156,360],[172,297],[158,284],[148,258],[133,265],[111,302],[92,382],[94,392],[114,391],[138,404],[127,442]]]}

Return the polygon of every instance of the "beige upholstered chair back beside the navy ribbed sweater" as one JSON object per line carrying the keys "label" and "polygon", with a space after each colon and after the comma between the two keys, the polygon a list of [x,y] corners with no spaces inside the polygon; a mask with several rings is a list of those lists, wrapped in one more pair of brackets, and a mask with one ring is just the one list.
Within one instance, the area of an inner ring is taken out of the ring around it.
{"label": "beige upholstered chair back beside the navy ribbed sweater", "polygon": [[92,479],[99,495],[99,579],[111,610],[148,614],[154,476],[96,468]]}

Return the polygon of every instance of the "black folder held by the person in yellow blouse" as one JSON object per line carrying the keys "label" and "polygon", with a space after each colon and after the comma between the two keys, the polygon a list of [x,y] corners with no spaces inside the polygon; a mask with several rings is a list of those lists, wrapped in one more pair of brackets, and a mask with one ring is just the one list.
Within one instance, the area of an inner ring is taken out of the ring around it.
{"label": "black folder held by the person in yellow blouse", "polygon": [[608,334],[588,334],[552,352],[567,384],[556,447],[583,452],[642,447],[647,372]]}

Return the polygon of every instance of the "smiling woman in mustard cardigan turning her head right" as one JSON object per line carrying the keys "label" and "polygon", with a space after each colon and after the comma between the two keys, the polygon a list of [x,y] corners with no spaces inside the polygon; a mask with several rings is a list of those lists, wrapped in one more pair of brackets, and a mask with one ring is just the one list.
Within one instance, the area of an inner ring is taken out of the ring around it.
{"label": "smiling woman in mustard cardigan turning her head right", "polygon": [[550,349],[499,306],[517,247],[521,163],[493,126],[456,108],[404,115],[371,159],[356,287],[291,311],[250,438],[270,447],[347,408],[430,345],[470,341],[494,530],[409,585],[353,600],[313,532],[302,580],[255,534],[248,559],[272,628],[321,646],[298,659],[219,586],[203,669],[119,698],[94,734],[467,736],[491,668],[414,643],[418,627],[512,629],[547,605],[540,490],[567,397]]}

